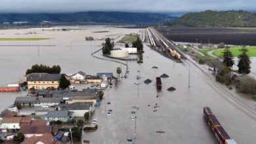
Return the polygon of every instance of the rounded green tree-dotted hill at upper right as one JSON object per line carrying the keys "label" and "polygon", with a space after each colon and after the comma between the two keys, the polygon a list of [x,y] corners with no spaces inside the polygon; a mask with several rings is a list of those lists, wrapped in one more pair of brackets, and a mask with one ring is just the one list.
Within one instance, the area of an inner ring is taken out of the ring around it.
{"label": "rounded green tree-dotted hill at upper right", "polygon": [[243,10],[189,12],[177,18],[173,26],[256,27],[256,13]]}

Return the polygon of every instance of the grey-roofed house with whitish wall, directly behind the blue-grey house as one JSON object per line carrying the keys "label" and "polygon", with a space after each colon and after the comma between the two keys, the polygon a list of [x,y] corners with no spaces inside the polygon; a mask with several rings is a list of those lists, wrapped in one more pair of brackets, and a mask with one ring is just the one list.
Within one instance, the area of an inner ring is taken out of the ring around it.
{"label": "grey-roofed house with whitish wall, directly behind the blue-grey house", "polygon": [[77,102],[72,104],[60,104],[56,107],[57,111],[70,111],[74,113],[74,117],[83,117],[85,113],[93,113],[95,103],[93,102]]}

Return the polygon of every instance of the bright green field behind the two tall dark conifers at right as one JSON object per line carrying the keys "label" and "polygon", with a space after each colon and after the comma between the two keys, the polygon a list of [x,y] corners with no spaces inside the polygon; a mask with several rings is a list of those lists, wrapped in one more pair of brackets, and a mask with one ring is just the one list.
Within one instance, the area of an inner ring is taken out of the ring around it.
{"label": "bright green field behind the two tall dark conifers at right", "polygon": [[[234,57],[238,57],[240,54],[240,48],[241,46],[231,46],[230,50]],[[247,47],[247,54],[249,57],[256,57],[256,46],[248,46]],[[223,57],[223,51],[224,49],[217,50],[213,52],[215,56]]]}

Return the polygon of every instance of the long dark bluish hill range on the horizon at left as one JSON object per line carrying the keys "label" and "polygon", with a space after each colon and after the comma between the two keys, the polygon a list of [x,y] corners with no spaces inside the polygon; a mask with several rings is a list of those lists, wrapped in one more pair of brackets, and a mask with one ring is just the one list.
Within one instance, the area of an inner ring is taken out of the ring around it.
{"label": "long dark bluish hill range on the horizon at left", "polygon": [[77,12],[60,14],[0,14],[0,22],[98,22],[98,23],[151,23],[172,21],[167,14],[139,12]]}

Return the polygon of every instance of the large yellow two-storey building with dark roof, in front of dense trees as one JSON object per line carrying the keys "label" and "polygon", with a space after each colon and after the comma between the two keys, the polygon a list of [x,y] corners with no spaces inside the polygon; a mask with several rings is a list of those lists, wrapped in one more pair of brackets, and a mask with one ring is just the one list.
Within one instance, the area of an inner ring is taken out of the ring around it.
{"label": "large yellow two-storey building with dark roof, in front of dense trees", "polygon": [[58,88],[61,74],[30,73],[27,77],[28,89]]}

